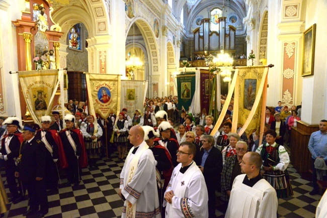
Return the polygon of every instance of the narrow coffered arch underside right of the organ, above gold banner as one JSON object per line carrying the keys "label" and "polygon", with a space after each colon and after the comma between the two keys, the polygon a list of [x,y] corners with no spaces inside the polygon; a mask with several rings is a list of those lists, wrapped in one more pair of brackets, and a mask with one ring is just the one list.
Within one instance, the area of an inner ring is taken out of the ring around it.
{"label": "narrow coffered arch underside right of the organ, above gold banner", "polygon": [[264,11],[261,19],[260,31],[259,31],[258,60],[263,58],[262,52],[265,52],[265,58],[267,58],[267,38],[268,38],[268,11]]}

